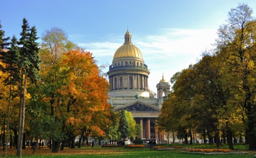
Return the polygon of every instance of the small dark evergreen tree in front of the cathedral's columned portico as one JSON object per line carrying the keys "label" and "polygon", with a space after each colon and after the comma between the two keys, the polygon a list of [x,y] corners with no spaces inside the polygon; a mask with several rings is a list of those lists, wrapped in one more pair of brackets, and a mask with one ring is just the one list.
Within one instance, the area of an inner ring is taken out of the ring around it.
{"label": "small dark evergreen tree in front of the cathedral's columned portico", "polygon": [[124,110],[120,111],[120,120],[119,120],[119,127],[118,127],[118,132],[120,132],[120,138],[124,139],[127,138],[129,135],[129,126],[128,126],[128,121],[126,119]]}

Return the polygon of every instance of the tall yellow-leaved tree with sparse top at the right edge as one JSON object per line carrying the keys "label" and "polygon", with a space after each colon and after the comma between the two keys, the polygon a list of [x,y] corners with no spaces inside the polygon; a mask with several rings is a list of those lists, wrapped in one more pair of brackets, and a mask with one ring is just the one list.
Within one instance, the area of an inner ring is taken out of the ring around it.
{"label": "tall yellow-leaved tree with sparse top at the right edge", "polygon": [[256,149],[255,132],[255,52],[256,20],[247,4],[238,4],[228,13],[227,24],[218,29],[218,53],[229,64],[230,80],[235,81],[236,106],[244,110],[244,123],[249,150]]}

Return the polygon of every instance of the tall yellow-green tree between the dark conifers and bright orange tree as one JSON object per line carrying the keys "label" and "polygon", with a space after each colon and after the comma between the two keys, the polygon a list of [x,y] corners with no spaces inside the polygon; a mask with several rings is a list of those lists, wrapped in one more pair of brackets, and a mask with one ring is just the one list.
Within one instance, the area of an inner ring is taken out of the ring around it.
{"label": "tall yellow-green tree between the dark conifers and bright orange tree", "polygon": [[[75,44],[68,41],[67,34],[60,28],[53,27],[47,29],[42,34],[40,49],[41,71],[40,83],[41,91],[38,95],[42,96],[42,101],[46,107],[45,115],[49,116],[49,141],[52,152],[58,152],[59,144],[64,140],[63,124],[65,121],[60,116],[57,107],[60,106],[62,95],[58,92],[62,86],[67,85],[68,75],[64,73],[63,59],[64,53],[75,49]],[[57,119],[56,119],[57,118]],[[63,122],[64,121],[64,122]]]}

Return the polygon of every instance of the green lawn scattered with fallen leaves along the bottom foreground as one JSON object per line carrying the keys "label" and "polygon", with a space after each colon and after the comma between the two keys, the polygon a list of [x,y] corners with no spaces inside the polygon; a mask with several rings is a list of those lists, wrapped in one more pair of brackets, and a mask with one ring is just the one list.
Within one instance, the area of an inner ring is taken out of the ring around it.
{"label": "green lawn scattered with fallen leaves along the bottom foreground", "polygon": [[[163,144],[161,144],[162,146]],[[166,144],[167,146],[168,144]],[[172,146],[183,146],[184,144],[171,144]],[[201,144],[201,147],[211,148],[214,146]],[[170,145],[169,145],[170,146]],[[237,144],[237,148],[243,147],[243,144]],[[200,147],[189,146],[191,147]],[[0,148],[0,154],[3,155],[3,148]],[[245,151],[245,150],[242,150]],[[8,148],[8,158],[16,158],[16,150],[13,148]],[[31,155],[32,150],[23,150],[23,158],[253,158],[256,152],[249,152],[249,154],[225,154],[225,155],[202,155],[202,154],[185,154],[181,153],[180,150],[172,151],[158,151],[149,148],[125,148],[125,147],[82,147],[82,148],[65,148],[64,151],[59,151],[59,153],[51,153],[51,150],[37,149],[34,155]]]}

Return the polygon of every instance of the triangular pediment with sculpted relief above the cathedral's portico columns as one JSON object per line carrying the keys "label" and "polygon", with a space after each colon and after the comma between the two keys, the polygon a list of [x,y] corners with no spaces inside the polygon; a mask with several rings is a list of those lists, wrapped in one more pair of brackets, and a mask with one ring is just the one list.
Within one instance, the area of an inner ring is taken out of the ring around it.
{"label": "triangular pediment with sculpted relief above the cathedral's portico columns", "polygon": [[147,104],[139,102],[139,101],[136,101],[135,103],[134,102],[129,103],[123,107],[119,107],[115,111],[121,110],[121,109],[127,110],[132,113],[136,113],[136,112],[137,113],[145,113],[145,112],[159,113],[160,112],[160,109],[158,109],[157,107],[153,107],[153,106],[147,105]]}

